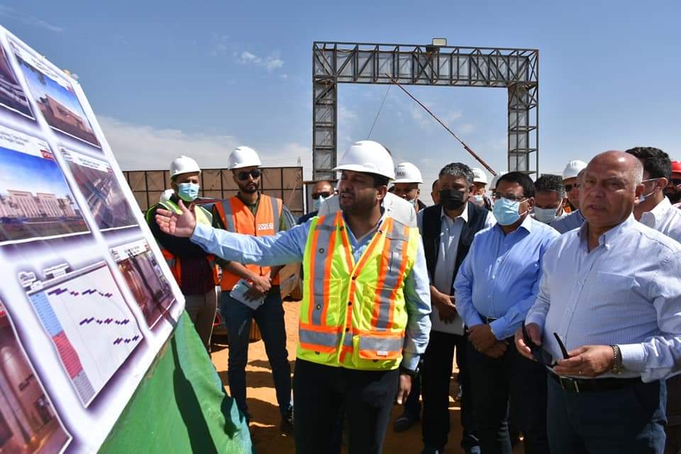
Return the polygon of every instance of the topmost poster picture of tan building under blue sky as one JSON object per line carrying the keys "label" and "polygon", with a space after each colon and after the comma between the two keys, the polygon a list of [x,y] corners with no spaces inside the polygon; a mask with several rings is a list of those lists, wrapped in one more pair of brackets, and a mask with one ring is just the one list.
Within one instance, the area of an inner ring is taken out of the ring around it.
{"label": "topmost poster picture of tan building under blue sky", "polygon": [[16,46],[14,48],[29,90],[49,125],[55,130],[100,147],[70,82],[45,64],[40,64],[28,52],[19,50]]}

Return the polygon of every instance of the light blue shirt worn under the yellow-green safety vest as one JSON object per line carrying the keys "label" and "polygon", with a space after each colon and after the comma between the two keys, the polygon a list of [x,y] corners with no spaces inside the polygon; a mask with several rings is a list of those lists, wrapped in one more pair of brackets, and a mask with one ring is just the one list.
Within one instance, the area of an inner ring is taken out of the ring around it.
{"label": "light blue shirt worn under the yellow-green safety vest", "polygon": [[[360,239],[356,239],[352,231],[348,229],[350,247],[355,261],[359,261],[384,218],[385,215],[370,233]],[[268,237],[251,237],[196,225],[192,242],[226,260],[258,263],[261,266],[283,265],[303,260],[310,222],[312,221],[309,220],[286,232],[279,232]],[[402,366],[415,370],[419,364],[419,357],[426,351],[428,334],[431,330],[431,320],[428,317],[431,313],[431,292],[428,285],[426,256],[423,254],[421,242],[419,242],[414,267],[404,279],[404,300],[409,319],[404,336]]]}

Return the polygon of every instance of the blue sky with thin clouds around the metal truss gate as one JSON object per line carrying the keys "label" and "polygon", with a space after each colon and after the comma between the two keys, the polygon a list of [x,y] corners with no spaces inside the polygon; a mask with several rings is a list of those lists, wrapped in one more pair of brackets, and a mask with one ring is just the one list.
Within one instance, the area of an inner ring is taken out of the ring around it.
{"label": "blue sky with thin clouds around the metal truss gate", "polygon": [[[541,171],[643,144],[681,159],[676,1],[75,3],[1,2],[0,23],[78,74],[124,169],[159,168],[180,153],[224,166],[233,147],[248,144],[265,164],[301,157],[308,170],[312,42],[427,44],[436,36],[540,50]],[[366,137],[386,89],[341,86],[341,151]],[[413,93],[504,169],[503,89]],[[372,139],[421,166],[428,182],[447,162],[474,164],[396,88]]]}

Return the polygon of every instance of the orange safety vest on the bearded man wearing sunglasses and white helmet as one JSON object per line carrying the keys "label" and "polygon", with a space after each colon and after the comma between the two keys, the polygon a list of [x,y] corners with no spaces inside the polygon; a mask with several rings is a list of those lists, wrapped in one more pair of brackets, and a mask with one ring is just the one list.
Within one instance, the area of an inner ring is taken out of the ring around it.
{"label": "orange safety vest on the bearded man wearing sunglasses and white helmet", "polygon": [[[228,232],[253,235],[254,237],[267,237],[279,232],[282,205],[282,200],[260,194],[258,211],[253,216],[253,212],[250,211],[248,206],[235,195],[228,200],[223,200],[222,203],[216,203],[214,208],[220,216],[222,225]],[[255,264],[244,266],[260,276],[267,275],[271,269],[270,266],[258,266]],[[220,288],[222,290],[232,290],[239,279],[240,277],[236,276],[236,274],[229,273],[223,269]],[[272,285],[279,285],[278,275],[272,276]]]}

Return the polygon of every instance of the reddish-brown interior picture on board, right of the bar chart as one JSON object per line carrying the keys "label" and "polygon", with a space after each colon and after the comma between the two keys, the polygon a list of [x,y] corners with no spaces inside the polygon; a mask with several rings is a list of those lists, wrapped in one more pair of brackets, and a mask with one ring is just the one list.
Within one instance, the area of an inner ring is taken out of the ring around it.
{"label": "reddish-brown interior picture on board, right of the bar chart", "polygon": [[153,327],[175,302],[175,296],[151,247],[146,240],[140,239],[112,248],[111,256],[135,296],[147,324]]}

